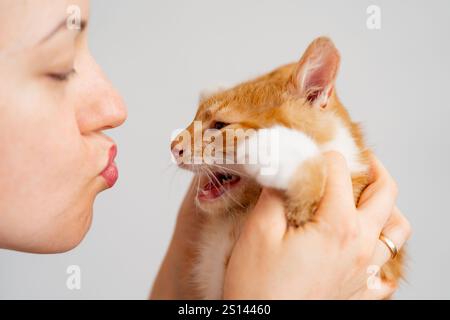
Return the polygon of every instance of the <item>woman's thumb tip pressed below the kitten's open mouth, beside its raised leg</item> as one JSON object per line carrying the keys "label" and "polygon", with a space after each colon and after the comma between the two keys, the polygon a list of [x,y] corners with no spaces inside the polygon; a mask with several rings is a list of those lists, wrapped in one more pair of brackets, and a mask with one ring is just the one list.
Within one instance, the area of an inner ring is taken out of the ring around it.
{"label": "woman's thumb tip pressed below the kitten's open mouth, beside its raised leg", "polygon": [[275,191],[264,188],[249,215],[246,229],[252,233],[282,239],[287,229],[284,201]]}

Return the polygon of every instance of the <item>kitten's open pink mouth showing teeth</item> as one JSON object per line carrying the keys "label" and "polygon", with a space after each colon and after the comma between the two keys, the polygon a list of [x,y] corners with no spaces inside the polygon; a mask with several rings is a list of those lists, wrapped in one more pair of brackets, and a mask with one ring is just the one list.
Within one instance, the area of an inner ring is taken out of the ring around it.
{"label": "kitten's open pink mouth showing teeth", "polygon": [[221,197],[241,180],[241,177],[231,173],[213,172],[208,182],[198,190],[197,198],[201,201],[211,201]]}

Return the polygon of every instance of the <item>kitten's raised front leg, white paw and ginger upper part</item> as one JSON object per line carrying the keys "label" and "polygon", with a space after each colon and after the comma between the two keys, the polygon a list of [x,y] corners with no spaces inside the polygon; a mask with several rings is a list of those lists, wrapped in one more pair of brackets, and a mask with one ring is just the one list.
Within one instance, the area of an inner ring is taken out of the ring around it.
{"label": "kitten's raised front leg, white paw and ginger upper part", "polygon": [[266,161],[246,164],[246,172],[262,186],[285,192],[289,222],[299,226],[310,220],[326,181],[325,161],[316,143],[303,132],[277,126],[258,131],[247,147]]}

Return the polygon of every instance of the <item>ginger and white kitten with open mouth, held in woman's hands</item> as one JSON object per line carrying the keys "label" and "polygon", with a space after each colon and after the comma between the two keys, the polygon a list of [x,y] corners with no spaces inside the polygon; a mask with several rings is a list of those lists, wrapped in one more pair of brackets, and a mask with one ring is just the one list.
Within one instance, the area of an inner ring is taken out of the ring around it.
{"label": "ginger and white kitten with open mouth, held in woman's hands", "polygon": [[[198,298],[222,297],[230,251],[261,186],[284,192],[288,221],[301,227],[313,219],[323,195],[327,174],[321,153],[335,150],[347,160],[355,203],[358,202],[369,181],[370,151],[364,145],[360,128],[351,121],[334,90],[339,62],[332,41],[318,38],[298,63],[203,97],[193,123],[186,129],[191,137],[198,135],[198,124],[201,134],[214,129],[213,139],[204,139],[197,145],[200,153],[191,151],[198,142],[181,143],[185,140],[181,134],[172,142],[172,152],[180,166],[196,173],[195,201],[205,215],[192,270]],[[230,148],[225,143],[226,135],[239,129],[253,133],[241,143],[234,137],[234,148]],[[272,173],[264,173],[258,162],[238,161],[248,160],[251,152],[260,152],[261,145],[266,146],[273,136],[277,137],[277,144],[270,152],[278,163]],[[215,150],[215,155],[239,163],[195,162],[218,138],[222,139],[222,148]],[[400,252],[382,268],[382,277],[398,281],[403,272],[402,260]]]}

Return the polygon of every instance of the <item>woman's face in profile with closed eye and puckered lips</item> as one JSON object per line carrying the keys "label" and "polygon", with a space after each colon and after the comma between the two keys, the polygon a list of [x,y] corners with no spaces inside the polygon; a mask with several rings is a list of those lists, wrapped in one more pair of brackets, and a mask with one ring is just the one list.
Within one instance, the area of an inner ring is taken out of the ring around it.
{"label": "woman's face in profile with closed eye and puckered lips", "polygon": [[102,131],[122,124],[126,109],[89,53],[88,5],[0,1],[0,248],[74,248],[95,197],[117,178]]}

